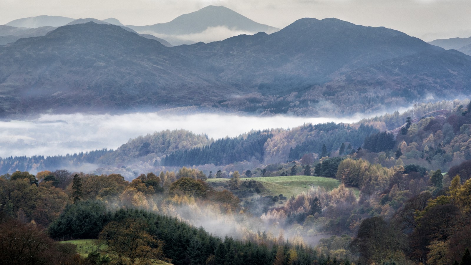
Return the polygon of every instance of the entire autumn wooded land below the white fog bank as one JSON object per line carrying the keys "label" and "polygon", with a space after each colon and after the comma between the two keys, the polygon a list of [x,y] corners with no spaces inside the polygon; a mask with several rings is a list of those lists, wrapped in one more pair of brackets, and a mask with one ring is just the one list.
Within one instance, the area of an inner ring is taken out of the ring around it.
{"label": "entire autumn wooded land below the white fog bank", "polygon": [[[357,124],[304,124],[218,140],[163,131],[117,150],[2,158],[0,226],[9,231],[2,260],[468,264],[470,110],[467,100],[444,101]],[[84,163],[102,167],[67,169]],[[289,179],[305,175],[333,181],[303,182],[295,192]],[[260,180],[268,176],[285,182]],[[41,248],[8,247],[24,246],[16,239],[26,236]],[[139,238],[135,248],[119,247],[131,238]],[[71,239],[102,247],[81,257],[76,246],[57,244]]]}

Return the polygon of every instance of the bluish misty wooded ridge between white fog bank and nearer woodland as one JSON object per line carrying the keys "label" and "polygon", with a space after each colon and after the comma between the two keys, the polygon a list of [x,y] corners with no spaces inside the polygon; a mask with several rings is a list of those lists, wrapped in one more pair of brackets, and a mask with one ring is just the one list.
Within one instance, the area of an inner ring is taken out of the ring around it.
{"label": "bluish misty wooded ridge between white fog bank and nearer woodland", "polygon": [[97,174],[119,173],[131,180],[140,172],[175,170],[181,166],[198,166],[207,175],[218,170],[227,173],[261,170],[289,161],[315,166],[322,157],[353,153],[383,166],[394,165],[401,158],[406,164],[446,172],[470,159],[468,105],[467,100],[417,104],[403,114],[396,111],[356,124],[304,124],[217,140],[184,130],[167,130],[130,139],[116,150],[0,158],[0,173],[68,168],[95,170]]}

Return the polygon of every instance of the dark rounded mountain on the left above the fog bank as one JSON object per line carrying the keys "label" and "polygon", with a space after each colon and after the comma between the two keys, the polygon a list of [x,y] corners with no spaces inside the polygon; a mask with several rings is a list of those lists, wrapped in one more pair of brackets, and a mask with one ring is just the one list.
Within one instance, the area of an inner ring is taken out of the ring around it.
{"label": "dark rounded mountain on the left above the fog bank", "polygon": [[3,112],[179,106],[237,92],[158,41],[116,25],[62,26],[0,47],[0,58]]}

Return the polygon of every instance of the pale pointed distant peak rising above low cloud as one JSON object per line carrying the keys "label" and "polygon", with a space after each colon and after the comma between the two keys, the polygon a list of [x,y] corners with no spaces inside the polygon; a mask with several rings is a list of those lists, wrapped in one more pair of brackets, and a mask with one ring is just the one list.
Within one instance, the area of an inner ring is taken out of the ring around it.
{"label": "pale pointed distant peak rising above low cloud", "polygon": [[229,29],[248,31],[257,33],[260,31],[273,33],[278,28],[257,23],[241,14],[223,7],[223,6],[207,6],[198,11],[184,14],[176,17],[170,22],[159,23],[148,26],[132,26],[128,27],[137,32],[154,32],[171,35],[200,33],[208,27],[225,26]]}

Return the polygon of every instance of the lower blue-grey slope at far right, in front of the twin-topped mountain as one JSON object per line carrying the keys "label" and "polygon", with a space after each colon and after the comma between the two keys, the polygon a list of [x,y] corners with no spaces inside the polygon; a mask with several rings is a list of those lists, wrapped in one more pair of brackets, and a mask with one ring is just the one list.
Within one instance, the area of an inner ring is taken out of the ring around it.
{"label": "lower blue-grey slope at far right, in front of the twin-topped mountain", "polygon": [[384,60],[353,70],[324,85],[332,99],[363,91],[376,100],[454,99],[469,96],[471,57],[455,50],[432,50]]}

